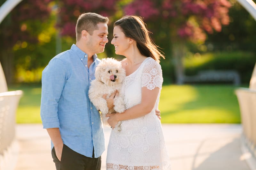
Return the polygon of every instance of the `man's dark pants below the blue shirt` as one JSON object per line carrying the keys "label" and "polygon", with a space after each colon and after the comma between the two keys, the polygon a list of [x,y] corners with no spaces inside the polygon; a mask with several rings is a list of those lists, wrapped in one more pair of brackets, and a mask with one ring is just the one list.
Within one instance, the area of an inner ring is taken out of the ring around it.
{"label": "man's dark pants below the blue shirt", "polygon": [[[93,155],[94,157],[94,151]],[[52,158],[56,170],[100,170],[101,157],[89,158],[81,155],[63,144],[61,160],[56,156],[55,149],[52,149]]]}

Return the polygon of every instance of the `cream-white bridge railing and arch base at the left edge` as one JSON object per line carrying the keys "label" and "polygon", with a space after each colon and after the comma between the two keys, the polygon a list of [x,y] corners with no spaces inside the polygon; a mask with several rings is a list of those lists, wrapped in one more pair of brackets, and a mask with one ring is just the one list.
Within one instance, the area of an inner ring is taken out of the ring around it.
{"label": "cream-white bridge railing and arch base at the left edge", "polygon": [[21,90],[8,92],[0,63],[0,170],[7,169],[13,164],[6,157],[10,157],[9,148],[15,137],[15,115],[21,96]]}

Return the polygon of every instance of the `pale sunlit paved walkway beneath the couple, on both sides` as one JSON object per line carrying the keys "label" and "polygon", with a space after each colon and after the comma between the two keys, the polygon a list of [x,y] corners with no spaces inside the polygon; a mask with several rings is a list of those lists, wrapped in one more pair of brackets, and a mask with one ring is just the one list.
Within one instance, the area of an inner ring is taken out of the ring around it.
{"label": "pale sunlit paved walkway beneath the couple, on both sides", "polygon": [[[107,146],[111,129],[104,130]],[[163,131],[172,170],[254,170],[245,161],[250,154],[241,151],[240,124],[163,124]],[[18,124],[16,143],[15,170],[55,170],[41,124]],[[105,160],[106,151],[102,170]]]}

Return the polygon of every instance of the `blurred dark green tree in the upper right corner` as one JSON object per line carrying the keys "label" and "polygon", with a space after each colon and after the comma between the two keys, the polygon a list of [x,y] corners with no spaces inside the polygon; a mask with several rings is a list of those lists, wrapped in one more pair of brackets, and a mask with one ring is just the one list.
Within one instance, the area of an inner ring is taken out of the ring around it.
{"label": "blurred dark green tree in the upper right corner", "polygon": [[[256,0],[253,0],[256,3]],[[208,35],[205,42],[210,50],[218,51],[253,51],[256,52],[256,22],[254,18],[236,0],[230,0],[230,24],[221,32]]]}

